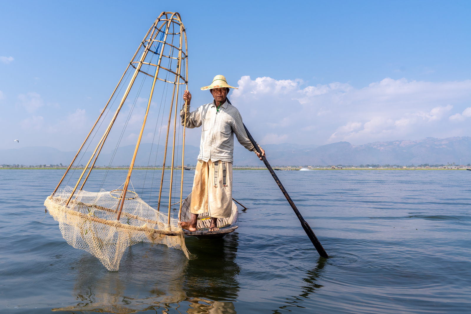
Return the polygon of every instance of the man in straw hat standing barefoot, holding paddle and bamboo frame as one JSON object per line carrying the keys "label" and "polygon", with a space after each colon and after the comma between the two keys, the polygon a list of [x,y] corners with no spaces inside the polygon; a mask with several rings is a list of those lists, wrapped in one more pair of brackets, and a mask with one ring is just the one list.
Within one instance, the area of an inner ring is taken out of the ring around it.
{"label": "man in straw hat standing barefoot, holding paddle and bamboo frame", "polygon": [[[237,88],[227,84],[223,75],[216,75],[211,85],[201,88],[201,90],[207,89],[214,100],[191,113],[191,94],[186,90],[183,95],[183,99],[187,101],[186,127],[190,129],[202,127],[200,154],[191,192],[191,218],[190,221],[180,222],[183,229],[192,232],[196,231],[199,214],[209,213],[210,231],[219,230],[218,218],[227,218],[231,215],[234,134],[241,145],[262,159],[247,137],[239,111],[227,99],[229,89]],[[184,108],[185,105],[180,111],[182,125],[185,124]],[[260,150],[265,156],[265,151],[261,147]]]}

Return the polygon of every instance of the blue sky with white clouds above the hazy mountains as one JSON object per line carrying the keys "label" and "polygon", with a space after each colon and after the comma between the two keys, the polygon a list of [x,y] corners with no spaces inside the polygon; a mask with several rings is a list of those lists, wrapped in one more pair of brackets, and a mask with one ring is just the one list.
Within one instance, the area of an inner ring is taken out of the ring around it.
{"label": "blue sky with white clouds above the hazy mountains", "polygon": [[262,145],[471,136],[469,1],[173,2],[2,2],[0,149],[80,147],[162,11],[186,27],[192,110],[225,75]]}

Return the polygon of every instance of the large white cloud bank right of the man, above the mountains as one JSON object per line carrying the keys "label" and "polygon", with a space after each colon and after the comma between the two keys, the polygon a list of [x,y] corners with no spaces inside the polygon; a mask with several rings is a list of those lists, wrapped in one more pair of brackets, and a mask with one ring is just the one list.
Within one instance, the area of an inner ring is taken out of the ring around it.
{"label": "large white cloud bank right of the man, above the mountains", "polygon": [[[238,84],[239,89],[229,98],[241,112],[247,128],[260,135],[261,144],[320,145],[338,141],[364,144],[471,134],[471,126],[454,131],[450,123],[453,116],[443,119],[455,108],[463,110],[463,103],[469,103],[471,80],[425,82],[386,78],[355,89],[340,82],[305,86],[301,80],[278,81],[269,77],[251,80],[243,76]],[[471,116],[471,109],[466,113]]]}

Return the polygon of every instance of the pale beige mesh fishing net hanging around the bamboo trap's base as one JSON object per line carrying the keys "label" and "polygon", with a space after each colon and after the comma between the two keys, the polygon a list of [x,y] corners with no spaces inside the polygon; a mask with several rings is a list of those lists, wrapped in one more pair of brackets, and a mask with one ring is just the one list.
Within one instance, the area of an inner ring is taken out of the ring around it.
{"label": "pale beige mesh fishing net hanging around the bamboo trap's base", "polygon": [[126,248],[141,241],[165,244],[192,258],[178,220],[171,218],[168,224],[168,215],[150,207],[137,193],[127,191],[117,221],[122,190],[77,191],[65,206],[72,191],[70,186],[57,190],[44,206],[59,222],[65,241],[97,257],[108,270],[117,271]]}

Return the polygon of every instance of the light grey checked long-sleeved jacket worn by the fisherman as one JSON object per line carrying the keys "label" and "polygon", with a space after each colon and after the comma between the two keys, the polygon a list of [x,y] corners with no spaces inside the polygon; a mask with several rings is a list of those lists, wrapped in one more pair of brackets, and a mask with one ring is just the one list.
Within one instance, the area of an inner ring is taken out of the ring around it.
{"label": "light grey checked long-sleeved jacket worn by the fisherman", "polygon": [[[255,148],[247,137],[239,111],[227,100],[219,107],[217,112],[215,101],[202,105],[194,112],[187,111],[187,125],[189,129],[202,127],[200,154],[198,159],[203,161],[234,161],[234,134],[237,140],[249,151]],[[181,125],[184,125],[185,112],[180,111]],[[259,145],[260,146],[260,145]]]}

